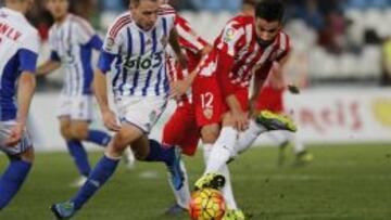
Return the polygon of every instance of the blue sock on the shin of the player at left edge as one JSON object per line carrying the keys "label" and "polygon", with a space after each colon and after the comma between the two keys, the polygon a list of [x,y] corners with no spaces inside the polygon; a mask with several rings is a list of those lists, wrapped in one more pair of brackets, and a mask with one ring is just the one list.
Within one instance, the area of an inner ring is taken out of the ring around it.
{"label": "blue sock on the shin of the player at left edge", "polygon": [[0,179],[0,210],[4,208],[25,181],[31,164],[21,160],[12,159],[7,171]]}

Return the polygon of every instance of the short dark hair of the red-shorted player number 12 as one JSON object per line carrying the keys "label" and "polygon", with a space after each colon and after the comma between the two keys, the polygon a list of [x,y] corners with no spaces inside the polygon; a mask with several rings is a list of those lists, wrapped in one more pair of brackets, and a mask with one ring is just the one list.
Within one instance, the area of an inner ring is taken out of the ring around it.
{"label": "short dark hair of the red-shorted player number 12", "polygon": [[255,7],[255,17],[267,22],[282,22],[283,12],[283,4],[278,0],[262,0]]}

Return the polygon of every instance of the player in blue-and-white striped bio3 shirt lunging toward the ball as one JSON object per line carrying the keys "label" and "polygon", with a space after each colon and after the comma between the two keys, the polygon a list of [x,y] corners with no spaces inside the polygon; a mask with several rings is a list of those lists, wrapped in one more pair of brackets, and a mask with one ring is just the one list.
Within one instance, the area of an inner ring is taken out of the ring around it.
{"label": "player in blue-and-white striped bio3 shirt lunging toward the ball", "polygon": [[[164,111],[168,98],[165,49],[169,43],[186,67],[174,29],[175,11],[157,0],[133,0],[130,11],[110,27],[94,75],[96,95],[104,125],[116,134],[78,193],[51,210],[59,219],[71,218],[114,173],[119,158],[130,145],[136,158],[163,161],[173,174],[173,184],[182,185],[179,160],[174,148],[163,148],[148,133]],[[117,116],[108,103],[105,73],[110,75]]]}

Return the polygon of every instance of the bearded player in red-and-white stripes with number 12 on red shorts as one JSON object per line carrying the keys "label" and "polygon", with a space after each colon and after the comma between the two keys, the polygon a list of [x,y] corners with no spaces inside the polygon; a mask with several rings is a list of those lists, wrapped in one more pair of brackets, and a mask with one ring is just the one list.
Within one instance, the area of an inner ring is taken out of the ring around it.
{"label": "bearded player in red-and-white stripes with number 12 on red shorts", "polygon": [[[172,88],[172,95],[177,96],[193,82],[197,122],[202,127],[203,141],[214,143],[205,174],[195,182],[195,187],[222,187],[225,180],[219,174],[222,167],[242,144],[249,144],[249,140],[272,128],[258,125],[255,117],[249,119],[248,115],[273,63],[282,64],[288,57],[291,42],[282,31],[282,17],[283,5],[276,0],[257,3],[255,17],[234,17],[197,70]],[[249,101],[253,76],[255,90]],[[278,129],[292,129],[290,120],[275,119],[281,122]],[[218,132],[220,124],[223,128]]]}

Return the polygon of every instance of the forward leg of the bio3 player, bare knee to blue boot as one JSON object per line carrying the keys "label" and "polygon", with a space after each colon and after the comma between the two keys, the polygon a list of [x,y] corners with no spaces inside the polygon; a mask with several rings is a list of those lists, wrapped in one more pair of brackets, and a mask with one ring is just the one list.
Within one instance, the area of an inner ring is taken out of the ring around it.
{"label": "forward leg of the bio3 player, bare knee to blue boot", "polygon": [[59,219],[73,217],[91,198],[99,189],[112,177],[119,163],[124,150],[135,140],[141,138],[142,131],[124,125],[106,147],[105,155],[100,159],[88,177],[87,182],[70,200],[51,206],[51,211]]}

